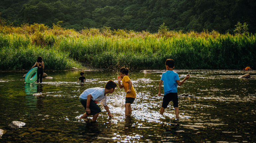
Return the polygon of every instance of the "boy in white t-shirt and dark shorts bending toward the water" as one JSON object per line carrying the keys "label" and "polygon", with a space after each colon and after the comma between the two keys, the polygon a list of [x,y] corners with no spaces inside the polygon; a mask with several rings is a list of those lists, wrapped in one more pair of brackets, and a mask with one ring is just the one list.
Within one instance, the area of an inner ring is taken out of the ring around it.
{"label": "boy in white t-shirt and dark shorts bending toward the water", "polygon": [[92,115],[92,121],[96,122],[99,112],[101,112],[100,107],[95,103],[99,102],[106,109],[109,117],[113,117],[107,106],[107,93],[113,93],[116,88],[116,83],[109,80],[105,88],[90,88],[83,91],[79,96],[79,101],[86,109],[86,112],[80,117],[81,119],[87,118]]}

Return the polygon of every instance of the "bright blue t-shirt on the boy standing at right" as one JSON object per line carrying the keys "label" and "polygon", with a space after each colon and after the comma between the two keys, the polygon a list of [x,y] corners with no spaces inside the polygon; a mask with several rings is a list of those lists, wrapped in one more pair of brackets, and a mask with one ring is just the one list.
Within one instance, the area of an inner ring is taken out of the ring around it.
{"label": "bright blue t-shirt on the boy standing at right", "polygon": [[180,80],[179,75],[171,70],[168,70],[162,74],[161,80],[164,82],[164,95],[173,92],[177,92],[177,82]]}

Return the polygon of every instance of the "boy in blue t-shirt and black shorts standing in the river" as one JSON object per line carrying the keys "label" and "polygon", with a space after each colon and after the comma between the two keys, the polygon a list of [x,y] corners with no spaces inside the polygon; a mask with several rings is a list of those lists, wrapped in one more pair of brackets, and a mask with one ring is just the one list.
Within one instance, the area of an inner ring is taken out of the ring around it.
{"label": "boy in blue t-shirt and black shorts standing in the river", "polygon": [[181,86],[187,79],[190,78],[188,74],[181,82],[179,75],[173,71],[174,68],[174,60],[167,59],[165,61],[166,72],[162,74],[159,89],[158,89],[158,96],[162,96],[161,88],[164,82],[164,98],[163,104],[160,109],[160,114],[164,113],[165,108],[167,108],[170,101],[173,101],[173,106],[175,108],[175,115],[176,119],[179,119],[179,107],[178,107],[178,93],[177,93],[177,85]]}

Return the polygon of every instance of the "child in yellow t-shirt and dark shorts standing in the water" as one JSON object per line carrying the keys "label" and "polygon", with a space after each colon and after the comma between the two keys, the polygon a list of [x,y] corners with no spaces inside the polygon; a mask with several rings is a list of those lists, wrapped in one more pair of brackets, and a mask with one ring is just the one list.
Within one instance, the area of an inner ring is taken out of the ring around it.
{"label": "child in yellow t-shirt and dark shorts standing in the water", "polygon": [[[134,99],[136,98],[136,92],[132,86],[132,82],[128,77],[128,68],[122,67],[120,69],[120,76],[117,77],[119,88],[124,88],[126,92],[125,98],[125,116],[132,115],[132,107]],[[122,81],[122,84],[121,84]]]}

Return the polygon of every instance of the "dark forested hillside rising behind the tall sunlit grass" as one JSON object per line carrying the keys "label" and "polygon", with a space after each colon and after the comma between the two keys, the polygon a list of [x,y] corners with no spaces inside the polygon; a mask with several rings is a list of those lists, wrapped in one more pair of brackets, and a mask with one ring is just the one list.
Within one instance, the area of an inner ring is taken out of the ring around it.
{"label": "dark forested hillside rising behind the tall sunlit grass", "polygon": [[170,30],[233,33],[237,22],[256,33],[255,0],[1,0],[7,23],[44,23],[81,30],[84,27],[157,32]]}

